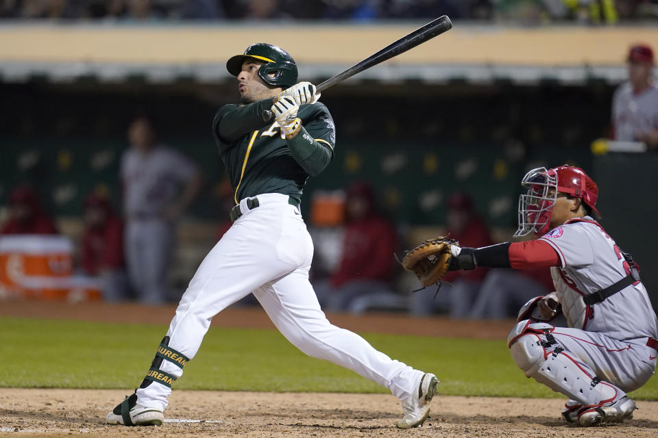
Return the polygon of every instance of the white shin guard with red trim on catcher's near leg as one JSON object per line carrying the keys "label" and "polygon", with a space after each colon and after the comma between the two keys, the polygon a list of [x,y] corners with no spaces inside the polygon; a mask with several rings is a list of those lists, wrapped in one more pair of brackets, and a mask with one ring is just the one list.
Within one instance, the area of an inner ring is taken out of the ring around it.
{"label": "white shin guard with red trim on catcher's near leg", "polygon": [[550,324],[531,324],[528,320],[512,329],[509,338],[512,359],[526,377],[581,402],[584,407],[600,407],[625,396],[617,387],[588,374],[586,365],[558,346],[550,334],[554,329]]}

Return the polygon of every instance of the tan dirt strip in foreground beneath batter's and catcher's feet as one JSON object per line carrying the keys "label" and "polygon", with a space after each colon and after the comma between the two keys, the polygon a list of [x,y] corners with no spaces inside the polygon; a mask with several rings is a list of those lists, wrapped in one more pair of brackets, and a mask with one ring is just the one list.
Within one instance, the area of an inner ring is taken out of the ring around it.
{"label": "tan dirt strip in foreground beneath batter's and catcher's feet", "polygon": [[[272,394],[174,391],[163,426],[105,424],[116,390],[2,389],[0,436],[5,437],[652,437],[658,402],[637,402],[624,424],[580,428],[560,419],[562,401],[441,397],[422,428],[398,430],[400,404],[382,394]],[[206,420],[205,422],[182,422]],[[178,421],[178,422],[171,422]]]}

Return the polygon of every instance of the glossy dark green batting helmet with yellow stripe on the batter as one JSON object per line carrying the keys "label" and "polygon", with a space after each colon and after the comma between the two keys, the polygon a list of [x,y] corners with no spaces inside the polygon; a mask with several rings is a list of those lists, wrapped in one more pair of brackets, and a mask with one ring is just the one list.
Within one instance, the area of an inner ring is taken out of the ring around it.
{"label": "glossy dark green batting helmet with yellow stripe on the batter", "polygon": [[[226,62],[228,73],[237,76],[242,71],[242,64],[247,60],[265,61],[258,69],[258,76],[265,83],[288,88],[297,83],[297,64],[284,49],[265,42],[257,42],[247,47],[243,55],[230,57]],[[273,76],[270,76],[274,73]]]}

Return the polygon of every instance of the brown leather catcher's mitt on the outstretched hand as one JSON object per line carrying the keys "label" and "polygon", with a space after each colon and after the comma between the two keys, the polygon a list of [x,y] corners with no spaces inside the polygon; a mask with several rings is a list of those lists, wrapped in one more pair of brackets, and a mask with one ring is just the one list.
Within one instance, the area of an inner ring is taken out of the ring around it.
{"label": "brown leather catcher's mitt on the outstretched hand", "polygon": [[402,268],[416,274],[421,285],[433,285],[448,272],[452,245],[459,245],[459,242],[450,237],[426,240],[406,253]]}

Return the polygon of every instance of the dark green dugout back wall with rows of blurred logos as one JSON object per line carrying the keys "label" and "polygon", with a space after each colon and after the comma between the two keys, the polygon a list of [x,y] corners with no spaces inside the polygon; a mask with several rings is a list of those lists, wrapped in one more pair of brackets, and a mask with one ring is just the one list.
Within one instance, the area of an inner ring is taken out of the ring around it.
{"label": "dark green dugout back wall with rows of blurred logos", "polygon": [[[223,164],[212,140],[167,142],[194,159],[206,176],[192,216],[223,220]],[[119,196],[123,140],[5,140],[0,149],[0,205],[16,184],[30,181],[57,216],[79,216],[86,194],[108,190]],[[527,159],[509,159],[500,147],[458,146],[428,142],[338,143],[334,161],[309,179],[302,206],[308,213],[317,190],[341,190],[352,181],[368,181],[384,211],[411,225],[442,224],[443,204],[452,192],[469,192],[492,227],[515,227],[519,181],[530,166],[566,162],[588,166],[589,154],[576,149],[541,148]]]}

